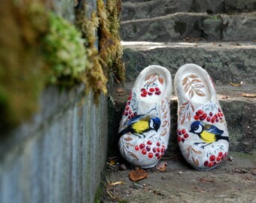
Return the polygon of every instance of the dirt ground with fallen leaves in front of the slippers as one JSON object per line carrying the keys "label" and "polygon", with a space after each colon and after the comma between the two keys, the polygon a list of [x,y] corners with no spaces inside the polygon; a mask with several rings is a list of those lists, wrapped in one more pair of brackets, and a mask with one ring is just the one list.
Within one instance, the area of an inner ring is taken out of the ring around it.
{"label": "dirt ground with fallen leaves in front of the slippers", "polygon": [[[165,171],[148,169],[133,182],[132,167],[120,171],[122,160],[108,160],[103,202],[256,202],[256,153],[230,153],[212,171],[190,168],[182,157],[166,157]],[[113,161],[114,160],[114,161]],[[122,181],[122,182],[119,182]],[[110,185],[114,183],[114,185]]]}

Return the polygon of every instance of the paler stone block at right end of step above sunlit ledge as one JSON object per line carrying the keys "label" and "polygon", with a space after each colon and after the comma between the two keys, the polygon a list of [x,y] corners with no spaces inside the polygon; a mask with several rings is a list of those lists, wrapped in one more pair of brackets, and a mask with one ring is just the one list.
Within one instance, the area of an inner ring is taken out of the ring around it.
{"label": "paler stone block at right end of step above sunlit ledge", "polygon": [[221,15],[223,19],[223,40],[255,40],[256,12],[249,14]]}

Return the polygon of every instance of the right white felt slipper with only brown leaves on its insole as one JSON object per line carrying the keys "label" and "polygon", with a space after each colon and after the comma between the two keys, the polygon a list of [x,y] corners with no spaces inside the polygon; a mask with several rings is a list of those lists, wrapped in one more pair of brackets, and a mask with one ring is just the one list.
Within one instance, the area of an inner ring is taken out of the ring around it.
{"label": "right white felt slipper with only brown leaves on its insole", "polygon": [[175,74],[178,96],[178,144],[184,159],[198,170],[218,166],[227,156],[227,124],[209,74],[186,64]]}

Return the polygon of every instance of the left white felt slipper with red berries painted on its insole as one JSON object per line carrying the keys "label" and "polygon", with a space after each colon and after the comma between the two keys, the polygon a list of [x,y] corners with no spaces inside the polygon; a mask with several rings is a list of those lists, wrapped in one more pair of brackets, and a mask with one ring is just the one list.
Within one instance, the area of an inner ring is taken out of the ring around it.
{"label": "left white felt slipper with red berries painted on its insole", "polygon": [[152,168],[169,141],[172,77],[166,68],[150,65],[137,77],[120,121],[120,153],[132,165]]}

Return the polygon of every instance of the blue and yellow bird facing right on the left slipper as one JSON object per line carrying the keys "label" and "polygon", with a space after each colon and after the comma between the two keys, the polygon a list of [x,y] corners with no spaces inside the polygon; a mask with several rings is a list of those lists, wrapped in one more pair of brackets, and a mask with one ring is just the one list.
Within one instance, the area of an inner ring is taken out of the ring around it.
{"label": "blue and yellow bird facing right on the left slipper", "polygon": [[133,135],[138,136],[139,138],[145,138],[145,132],[150,132],[151,130],[155,130],[157,132],[157,130],[160,128],[160,124],[161,121],[159,117],[145,114],[137,115],[131,120],[128,120],[126,123],[124,123],[124,126],[126,126],[126,128],[119,132],[118,135],[121,136],[130,132]]}

